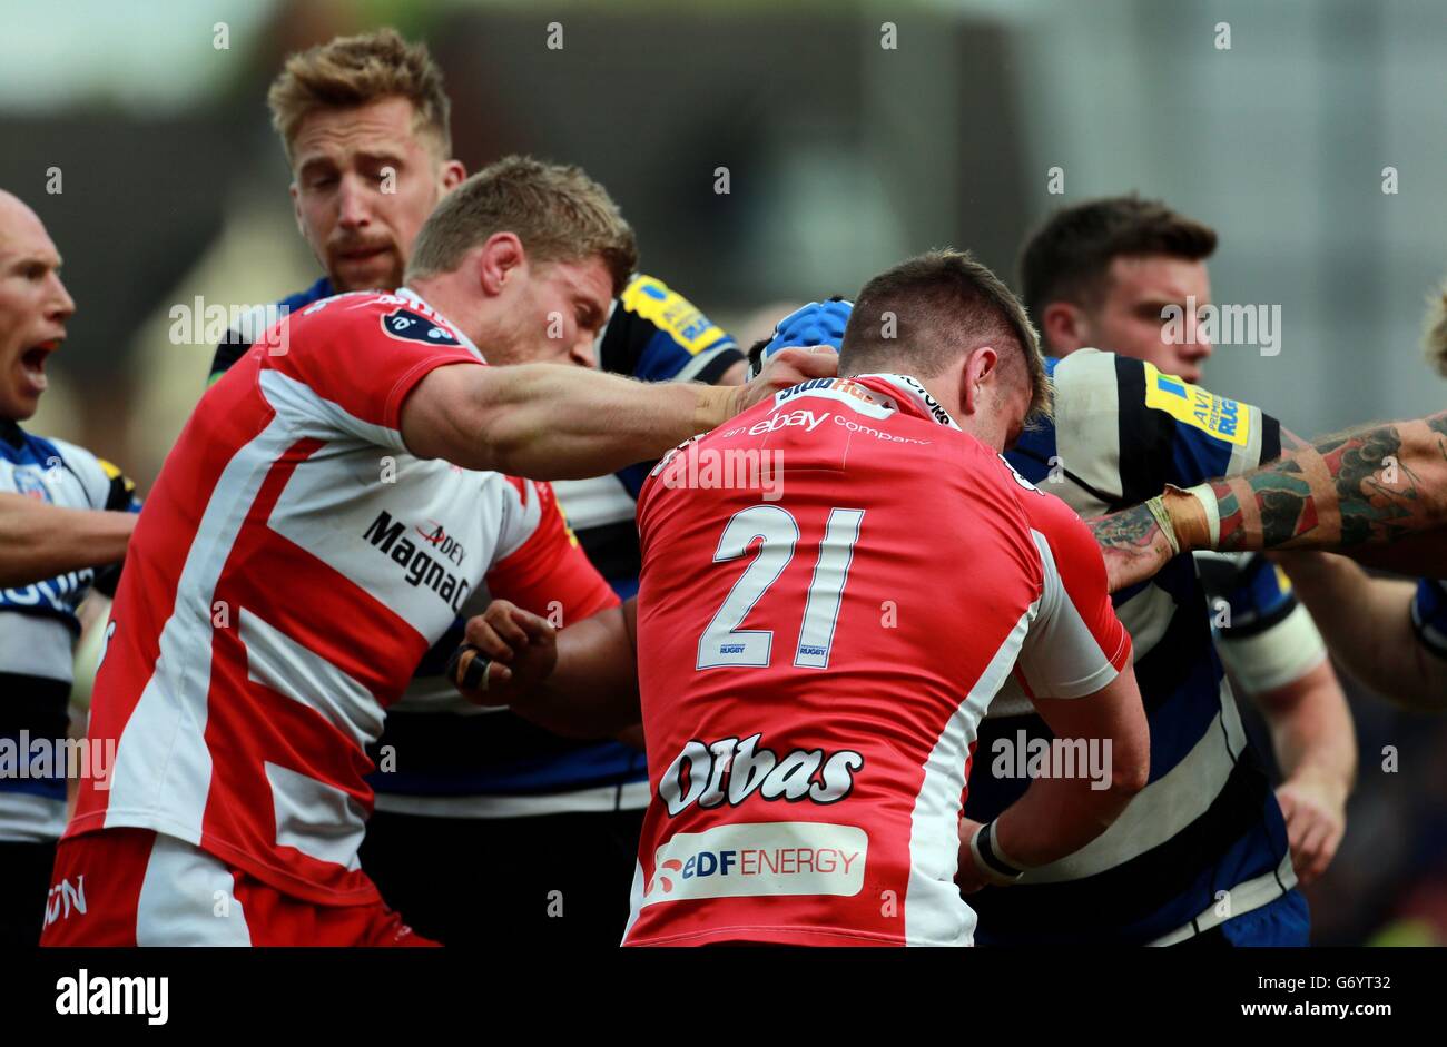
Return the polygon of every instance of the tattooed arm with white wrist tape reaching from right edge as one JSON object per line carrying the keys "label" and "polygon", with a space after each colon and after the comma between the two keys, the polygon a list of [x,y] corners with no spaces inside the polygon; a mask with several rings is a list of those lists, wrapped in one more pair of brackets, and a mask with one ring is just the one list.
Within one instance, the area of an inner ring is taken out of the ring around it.
{"label": "tattooed arm with white wrist tape reaching from right edge", "polygon": [[1242,476],[1192,492],[1168,489],[1152,502],[1155,510],[1147,502],[1091,521],[1111,591],[1155,574],[1176,547],[1331,550],[1443,577],[1447,411],[1325,437]]}

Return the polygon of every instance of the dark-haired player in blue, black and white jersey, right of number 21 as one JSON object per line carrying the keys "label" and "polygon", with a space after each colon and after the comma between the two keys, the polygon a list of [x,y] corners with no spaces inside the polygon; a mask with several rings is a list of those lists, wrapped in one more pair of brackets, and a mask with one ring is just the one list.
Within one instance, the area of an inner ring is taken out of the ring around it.
{"label": "dark-haired player in blue, black and white jersey, right of number 21", "polygon": [[[1058,409],[1053,428],[1027,432],[1009,457],[1082,516],[1279,453],[1273,418],[1194,385],[1210,341],[1162,337],[1166,307],[1211,302],[1215,244],[1202,223],[1132,195],[1056,211],[1022,250]],[[1150,784],[1085,852],[981,895],[980,940],[1307,944],[1295,885],[1334,856],[1356,772],[1351,717],[1320,633],[1265,558],[1182,557],[1116,607],[1150,716]],[[1283,778],[1275,791],[1223,661],[1270,727]],[[1029,713],[1001,694],[981,751],[1019,730],[1043,735]],[[967,807],[977,817],[1023,788],[984,769]]]}

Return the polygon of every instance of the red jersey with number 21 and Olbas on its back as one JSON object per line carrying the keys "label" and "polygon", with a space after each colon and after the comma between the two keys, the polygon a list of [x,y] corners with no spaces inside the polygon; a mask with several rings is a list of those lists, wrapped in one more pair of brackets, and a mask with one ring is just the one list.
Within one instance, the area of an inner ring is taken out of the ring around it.
{"label": "red jersey with number 21 and Olbas on its back", "polygon": [[954,884],[980,719],[1016,667],[1108,684],[1090,531],[915,379],[787,389],[638,503],[653,798],[625,944],[969,944]]}

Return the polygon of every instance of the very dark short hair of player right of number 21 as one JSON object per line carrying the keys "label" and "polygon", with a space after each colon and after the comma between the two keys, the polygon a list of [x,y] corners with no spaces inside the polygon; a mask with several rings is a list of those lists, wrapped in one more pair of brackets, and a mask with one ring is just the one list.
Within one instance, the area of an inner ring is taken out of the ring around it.
{"label": "very dark short hair of player right of number 21", "polygon": [[1129,255],[1198,262],[1215,250],[1215,230],[1158,200],[1107,197],[1066,207],[1042,224],[1020,252],[1020,289],[1032,317],[1051,302],[1100,302],[1110,263]]}

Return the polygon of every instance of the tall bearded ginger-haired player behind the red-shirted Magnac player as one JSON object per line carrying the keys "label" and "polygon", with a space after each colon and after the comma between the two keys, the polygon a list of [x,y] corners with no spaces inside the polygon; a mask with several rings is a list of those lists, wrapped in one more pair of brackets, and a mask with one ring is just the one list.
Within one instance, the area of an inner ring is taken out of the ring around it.
{"label": "tall bearded ginger-haired player behind the red-shirted Magnac player", "polygon": [[[292,171],[297,226],[326,270],[281,308],[396,288],[417,230],[464,176],[451,156],[443,75],[425,45],[391,29],[333,39],[291,55],[268,104]],[[256,334],[229,334],[213,382]],[[553,340],[547,349],[560,363],[645,380],[734,385],[742,370],[732,338],[647,275],[629,279],[596,343]],[[538,351],[532,343],[493,346],[488,362],[521,363]],[[637,590],[634,499],[650,467],[556,487],[577,539],[621,596]],[[528,609],[548,613],[551,603]],[[464,616],[486,604],[483,586]],[[556,610],[577,617],[564,600]],[[464,616],[388,710],[373,746],[382,759],[369,778],[376,811],[362,863],[418,933],[446,943],[501,936],[612,944],[627,918],[648,798],[642,753],[618,740],[561,739],[505,707],[460,700],[441,670]],[[459,905],[438,892],[437,869],[467,869],[476,901]]]}

